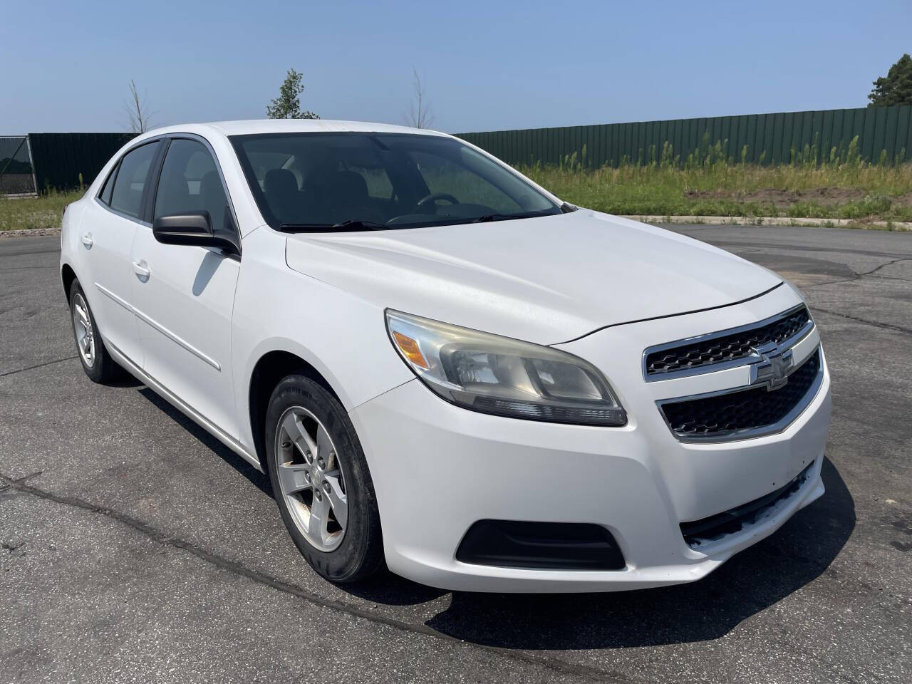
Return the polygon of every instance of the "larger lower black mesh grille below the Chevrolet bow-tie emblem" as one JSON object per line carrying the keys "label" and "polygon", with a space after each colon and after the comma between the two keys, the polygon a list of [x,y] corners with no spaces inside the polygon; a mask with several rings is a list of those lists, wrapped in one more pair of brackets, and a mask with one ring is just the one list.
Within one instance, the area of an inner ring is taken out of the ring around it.
{"label": "larger lower black mesh grille below the Chevrolet bow-tie emblem", "polygon": [[[762,430],[785,420],[814,387],[820,370],[820,349],[772,391],[766,386],[661,404],[668,427],[679,439],[720,438],[741,431]],[[810,399],[810,398],[808,398]]]}

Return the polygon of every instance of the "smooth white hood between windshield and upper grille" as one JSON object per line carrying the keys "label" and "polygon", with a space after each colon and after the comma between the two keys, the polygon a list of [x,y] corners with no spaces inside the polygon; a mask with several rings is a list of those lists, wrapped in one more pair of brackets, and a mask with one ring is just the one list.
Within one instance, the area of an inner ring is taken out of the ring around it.
{"label": "smooth white hood between windshield and upper grille", "polygon": [[781,282],[709,244],[609,214],[289,235],[290,268],[378,306],[543,345],[725,306]]}

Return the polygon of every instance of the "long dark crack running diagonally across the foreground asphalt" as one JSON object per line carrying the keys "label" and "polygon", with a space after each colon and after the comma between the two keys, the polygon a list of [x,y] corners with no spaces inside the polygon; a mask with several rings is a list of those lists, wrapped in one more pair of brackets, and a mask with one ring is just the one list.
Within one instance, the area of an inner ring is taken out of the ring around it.
{"label": "long dark crack running diagonally across the foreground asphalt", "polygon": [[69,506],[71,508],[78,508],[82,511],[95,513],[108,518],[109,520],[114,520],[148,537],[152,542],[156,544],[162,544],[165,546],[171,546],[175,549],[180,549],[181,551],[192,554],[203,562],[209,565],[213,565],[220,570],[231,572],[235,575],[241,575],[257,584],[268,586],[284,594],[296,596],[315,606],[326,607],[350,617],[360,617],[368,620],[368,622],[372,622],[378,625],[393,627],[395,629],[400,629],[402,631],[410,632],[413,634],[420,634],[424,637],[437,638],[442,641],[447,641],[452,644],[459,644],[468,648],[476,648],[492,655],[517,660],[526,665],[547,668],[561,674],[573,675],[575,677],[590,679],[592,681],[612,682],[617,684],[629,684],[631,681],[633,681],[632,679],[629,679],[627,676],[618,672],[608,672],[603,669],[589,668],[584,665],[575,665],[574,663],[561,660],[560,658],[536,658],[535,656],[523,651],[511,650],[509,648],[498,648],[495,646],[488,646],[486,644],[475,644],[469,641],[465,641],[464,639],[443,634],[431,627],[428,627],[427,625],[406,622],[395,617],[377,615],[358,606],[352,606],[351,604],[337,601],[332,598],[318,596],[312,592],[307,591],[301,586],[289,584],[278,579],[277,577],[271,577],[257,570],[253,570],[246,565],[242,565],[236,561],[224,558],[221,555],[206,551],[201,546],[181,539],[180,537],[173,537],[169,534],[161,532],[161,530],[158,530],[150,524],[144,523],[138,518],[134,518],[127,513],[120,513],[114,509],[108,508],[106,506],[99,506],[98,504],[84,501],[75,496],[64,496],[26,484],[25,481],[27,479],[36,477],[36,475],[39,474],[41,473],[36,472],[26,475],[24,478],[14,480],[9,476],[0,473],[0,482],[4,482],[5,488],[7,489],[29,494],[44,501],[59,503],[60,505]]}

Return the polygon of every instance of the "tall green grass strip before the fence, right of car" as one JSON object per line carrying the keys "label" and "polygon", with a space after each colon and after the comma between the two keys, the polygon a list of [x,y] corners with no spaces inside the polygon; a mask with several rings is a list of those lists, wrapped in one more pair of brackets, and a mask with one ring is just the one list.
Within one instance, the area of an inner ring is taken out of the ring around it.
{"label": "tall green grass strip before the fence, right of car", "polygon": [[770,166],[747,162],[746,149],[735,160],[726,147],[717,142],[682,160],[666,143],[617,167],[590,168],[584,146],[558,164],[520,169],[562,199],[603,212],[912,220],[912,162],[865,162],[857,139],[823,160],[808,146]]}

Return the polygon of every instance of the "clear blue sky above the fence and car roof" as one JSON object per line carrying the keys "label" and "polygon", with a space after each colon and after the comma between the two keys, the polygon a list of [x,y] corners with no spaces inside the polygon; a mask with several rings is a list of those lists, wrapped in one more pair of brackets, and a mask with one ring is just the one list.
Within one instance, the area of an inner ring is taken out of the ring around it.
{"label": "clear blue sky above the fence and car roof", "polygon": [[0,134],[264,117],[289,67],[324,119],[401,123],[411,67],[452,132],[862,107],[912,0],[5,2]]}

